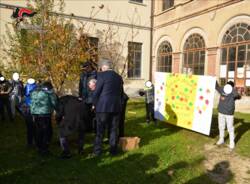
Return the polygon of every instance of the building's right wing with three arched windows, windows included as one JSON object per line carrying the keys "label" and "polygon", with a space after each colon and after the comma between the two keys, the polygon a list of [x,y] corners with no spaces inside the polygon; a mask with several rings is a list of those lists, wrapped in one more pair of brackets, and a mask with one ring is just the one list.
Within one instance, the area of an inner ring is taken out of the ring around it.
{"label": "building's right wing with three arched windows, windows included", "polygon": [[153,71],[234,81],[249,110],[250,1],[159,0],[154,3]]}

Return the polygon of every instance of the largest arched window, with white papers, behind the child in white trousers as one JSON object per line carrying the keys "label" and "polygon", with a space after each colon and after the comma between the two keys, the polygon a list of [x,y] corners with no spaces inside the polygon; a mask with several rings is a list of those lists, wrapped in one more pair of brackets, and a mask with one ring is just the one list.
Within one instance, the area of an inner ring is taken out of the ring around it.
{"label": "largest arched window, with white papers, behind the child in white trousers", "polygon": [[242,94],[250,95],[250,25],[246,23],[231,26],[222,39],[220,82],[230,80]]}

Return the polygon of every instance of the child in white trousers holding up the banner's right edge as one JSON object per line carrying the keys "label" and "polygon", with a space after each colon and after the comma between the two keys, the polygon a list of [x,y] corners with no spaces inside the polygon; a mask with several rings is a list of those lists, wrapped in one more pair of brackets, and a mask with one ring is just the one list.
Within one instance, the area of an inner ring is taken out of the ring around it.
{"label": "child in white trousers holding up the banner's right edge", "polygon": [[235,100],[240,98],[240,95],[234,89],[234,83],[232,81],[222,88],[216,82],[216,90],[220,93],[220,100],[218,105],[218,123],[219,123],[219,140],[216,143],[221,145],[224,143],[224,130],[227,125],[229,133],[229,148],[234,149],[234,111],[235,111]]}

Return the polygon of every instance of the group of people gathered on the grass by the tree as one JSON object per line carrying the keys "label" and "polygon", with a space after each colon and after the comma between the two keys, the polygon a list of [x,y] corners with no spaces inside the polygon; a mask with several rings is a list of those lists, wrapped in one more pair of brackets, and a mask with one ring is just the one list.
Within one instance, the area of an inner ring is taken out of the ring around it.
{"label": "group of people gathered on the grass by the tree", "polygon": [[[97,72],[93,62],[82,65],[79,82],[79,96],[58,97],[51,82],[37,83],[30,78],[23,83],[17,73],[13,80],[0,77],[1,116],[5,119],[7,109],[9,120],[14,120],[13,109],[17,109],[27,125],[27,145],[38,148],[41,155],[49,153],[52,139],[52,117],[59,129],[62,158],[71,157],[68,136],[78,133],[78,152],[83,153],[84,136],[95,132],[93,155],[102,154],[105,129],[108,129],[110,154],[117,154],[118,138],[124,136],[125,109],[128,96],[123,91],[122,77],[112,70],[112,62],[103,59]],[[15,95],[15,96],[13,96]],[[13,105],[13,109],[12,109]]]}

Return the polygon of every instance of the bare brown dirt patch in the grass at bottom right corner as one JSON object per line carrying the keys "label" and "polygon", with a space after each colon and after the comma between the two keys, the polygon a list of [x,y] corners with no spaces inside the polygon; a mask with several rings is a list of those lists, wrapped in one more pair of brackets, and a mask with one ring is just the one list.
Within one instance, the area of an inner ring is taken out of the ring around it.
{"label": "bare brown dirt patch in the grass at bottom right corner", "polygon": [[250,159],[241,157],[226,146],[205,145],[204,166],[215,183],[250,183]]}

